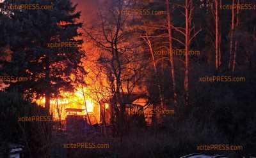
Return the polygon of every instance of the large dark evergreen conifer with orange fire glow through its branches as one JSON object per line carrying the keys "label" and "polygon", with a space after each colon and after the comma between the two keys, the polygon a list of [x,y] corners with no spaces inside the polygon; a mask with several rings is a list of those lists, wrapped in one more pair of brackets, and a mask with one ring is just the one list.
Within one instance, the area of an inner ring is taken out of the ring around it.
{"label": "large dark evergreen conifer with orange fire glow through its branches", "polygon": [[[23,3],[19,1],[17,4]],[[45,108],[50,113],[51,97],[61,90],[73,89],[70,75],[76,73],[84,53],[74,43],[70,47],[67,42],[82,43],[81,33],[77,31],[82,24],[76,22],[80,13],[69,0],[32,3],[50,4],[52,10],[12,10],[13,32],[8,32],[8,36],[13,54],[12,61],[4,64],[4,70],[30,78],[27,82],[12,83],[10,88],[19,87],[30,97],[45,97]],[[63,47],[51,48],[51,43],[60,43]]]}

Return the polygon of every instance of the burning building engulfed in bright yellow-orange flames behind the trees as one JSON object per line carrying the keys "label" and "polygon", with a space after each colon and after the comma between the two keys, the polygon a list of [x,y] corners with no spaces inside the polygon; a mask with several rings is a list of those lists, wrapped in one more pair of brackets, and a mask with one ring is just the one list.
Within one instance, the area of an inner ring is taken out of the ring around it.
{"label": "burning building engulfed in bright yellow-orange flames behind the trees", "polygon": [[[125,94],[124,106],[126,119],[130,116],[142,113],[145,117],[145,122],[150,124],[150,106],[145,94]],[[38,104],[44,106],[44,99],[36,101]],[[103,103],[97,103],[86,99],[85,103],[79,93],[68,95],[63,99],[51,101],[51,114],[54,120],[61,120],[66,124],[67,129],[72,129],[70,124],[76,124],[76,129],[81,129],[94,124],[110,124],[113,115],[113,106],[111,106],[111,99]],[[120,107],[119,107],[120,108]],[[73,122],[73,123],[72,123]],[[72,125],[73,126],[73,125]]]}

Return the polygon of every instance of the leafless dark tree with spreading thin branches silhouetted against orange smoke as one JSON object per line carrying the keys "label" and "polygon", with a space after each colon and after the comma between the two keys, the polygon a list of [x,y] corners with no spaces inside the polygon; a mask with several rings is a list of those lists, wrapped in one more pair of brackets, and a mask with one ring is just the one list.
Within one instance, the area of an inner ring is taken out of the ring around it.
{"label": "leafless dark tree with spreading thin branches silhouetted against orange smoke", "polygon": [[[122,10],[129,4],[122,0],[108,1],[104,8],[100,8],[99,22],[92,27],[84,27],[86,39],[92,41],[99,48],[100,56],[97,66],[104,71],[108,80],[111,94],[111,122],[117,126],[119,136],[123,136],[125,129],[124,96],[134,90],[138,77],[138,61],[140,57],[135,49],[137,43],[127,23],[129,20],[122,14]],[[117,10],[117,11],[116,11]],[[117,13],[117,14],[116,14]],[[122,140],[122,139],[121,139]]]}

